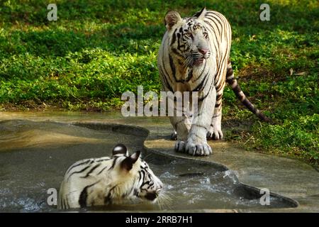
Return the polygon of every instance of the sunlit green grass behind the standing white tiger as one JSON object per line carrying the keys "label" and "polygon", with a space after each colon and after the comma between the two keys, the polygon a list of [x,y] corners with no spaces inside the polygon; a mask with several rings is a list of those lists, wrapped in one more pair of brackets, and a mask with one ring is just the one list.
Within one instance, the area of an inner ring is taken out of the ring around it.
{"label": "sunlit green grass behind the standing white tiger", "polygon": [[51,22],[49,3],[0,3],[2,109],[106,111],[121,107],[121,94],[138,85],[158,92],[164,13],[190,16],[206,6],[232,25],[231,59],[245,94],[279,122],[259,123],[227,87],[225,121],[252,124],[228,139],[318,166],[318,1],[267,1],[270,21],[259,21],[263,1],[57,0],[58,20]]}

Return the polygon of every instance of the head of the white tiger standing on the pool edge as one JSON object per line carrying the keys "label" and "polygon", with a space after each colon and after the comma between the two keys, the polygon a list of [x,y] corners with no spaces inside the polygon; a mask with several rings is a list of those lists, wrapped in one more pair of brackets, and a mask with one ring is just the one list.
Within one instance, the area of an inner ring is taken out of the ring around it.
{"label": "head of the white tiger standing on the pool edge", "polygon": [[202,65],[211,55],[208,31],[203,21],[205,14],[205,8],[190,18],[181,18],[177,11],[169,11],[164,18],[170,52],[184,67]]}

